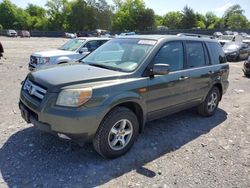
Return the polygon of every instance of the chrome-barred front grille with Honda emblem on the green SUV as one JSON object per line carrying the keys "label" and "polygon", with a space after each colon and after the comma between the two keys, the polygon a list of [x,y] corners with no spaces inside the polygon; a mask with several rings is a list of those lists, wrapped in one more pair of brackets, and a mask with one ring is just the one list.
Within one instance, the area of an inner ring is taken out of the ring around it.
{"label": "chrome-barred front grille with Honda emblem on the green SUV", "polygon": [[40,100],[43,100],[45,94],[46,94],[46,89],[38,86],[37,84],[34,84],[30,80],[26,80],[24,85],[23,85],[23,90],[27,91],[27,93],[30,96],[34,96]]}

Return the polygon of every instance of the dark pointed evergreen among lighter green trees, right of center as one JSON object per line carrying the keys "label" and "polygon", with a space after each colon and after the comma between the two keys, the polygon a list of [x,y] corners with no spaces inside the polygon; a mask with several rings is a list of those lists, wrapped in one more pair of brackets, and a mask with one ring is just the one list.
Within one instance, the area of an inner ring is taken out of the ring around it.
{"label": "dark pointed evergreen among lighter green trees, right of center", "polygon": [[194,10],[188,6],[185,6],[182,10],[182,28],[184,29],[192,29],[196,27],[196,14]]}

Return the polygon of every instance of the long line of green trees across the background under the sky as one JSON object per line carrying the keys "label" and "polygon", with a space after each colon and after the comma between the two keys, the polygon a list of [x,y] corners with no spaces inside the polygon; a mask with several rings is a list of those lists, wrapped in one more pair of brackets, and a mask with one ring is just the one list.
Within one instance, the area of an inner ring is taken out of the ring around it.
{"label": "long line of green trees across the background under the sky", "polygon": [[222,17],[213,12],[205,15],[185,6],[182,11],[156,15],[143,0],[48,0],[45,7],[28,4],[23,9],[3,0],[0,3],[0,30],[42,31],[150,31],[158,26],[169,29],[242,29],[250,28],[244,9],[236,4]]}

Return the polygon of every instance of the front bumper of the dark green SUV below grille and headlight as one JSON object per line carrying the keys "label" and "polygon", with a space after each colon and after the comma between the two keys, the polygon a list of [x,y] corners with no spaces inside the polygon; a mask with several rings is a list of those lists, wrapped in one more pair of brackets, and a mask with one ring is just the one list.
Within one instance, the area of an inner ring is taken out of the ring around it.
{"label": "front bumper of the dark green SUV below grille and headlight", "polygon": [[54,101],[55,93],[47,93],[39,103],[22,91],[19,101],[22,117],[39,130],[61,133],[78,143],[91,141],[105,114],[104,109],[64,108],[55,106]]}

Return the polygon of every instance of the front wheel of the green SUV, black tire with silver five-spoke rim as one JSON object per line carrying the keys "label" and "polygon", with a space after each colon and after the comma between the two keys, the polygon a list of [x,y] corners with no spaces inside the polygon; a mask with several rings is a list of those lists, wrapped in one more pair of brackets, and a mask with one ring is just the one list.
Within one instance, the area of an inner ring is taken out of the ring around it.
{"label": "front wheel of the green SUV, black tire with silver five-spoke rim", "polygon": [[139,123],[135,113],[126,107],[116,107],[104,117],[93,145],[104,158],[116,158],[129,151],[138,134]]}

